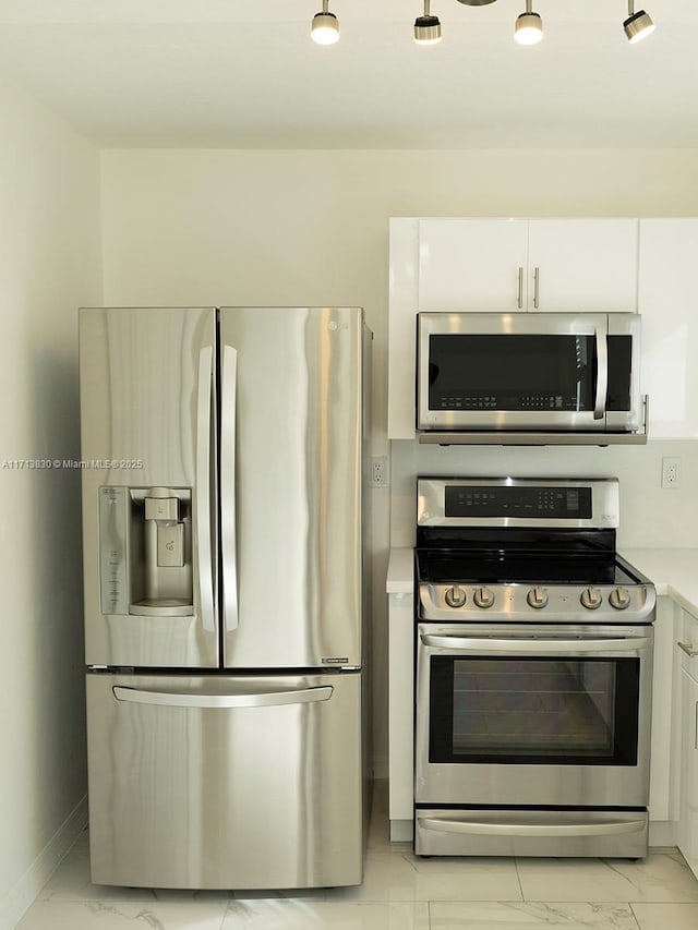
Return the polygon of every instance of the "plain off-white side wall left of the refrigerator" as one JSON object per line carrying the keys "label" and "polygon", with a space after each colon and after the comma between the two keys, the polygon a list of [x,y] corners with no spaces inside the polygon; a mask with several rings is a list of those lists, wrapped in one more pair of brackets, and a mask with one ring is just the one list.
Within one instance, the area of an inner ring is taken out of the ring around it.
{"label": "plain off-white side wall left of the refrigerator", "polygon": [[97,152],[0,81],[0,927],[84,825],[76,307],[101,299]]}

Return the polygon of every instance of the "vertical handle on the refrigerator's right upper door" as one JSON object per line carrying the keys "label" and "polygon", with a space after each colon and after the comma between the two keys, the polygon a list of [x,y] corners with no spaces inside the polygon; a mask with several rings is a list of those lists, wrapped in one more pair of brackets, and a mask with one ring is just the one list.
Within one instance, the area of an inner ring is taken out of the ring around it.
{"label": "vertical handle on the refrigerator's right upper door", "polygon": [[220,552],[226,630],[236,630],[238,615],[238,542],[236,529],[236,432],[238,351],[224,346],[220,399]]}

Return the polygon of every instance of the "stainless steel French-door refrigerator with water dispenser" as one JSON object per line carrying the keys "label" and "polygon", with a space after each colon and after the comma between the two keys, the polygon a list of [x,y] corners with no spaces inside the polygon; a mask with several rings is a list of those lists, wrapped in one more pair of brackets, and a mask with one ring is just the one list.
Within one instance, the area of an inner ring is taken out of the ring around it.
{"label": "stainless steel French-door refrigerator with water dispenser", "polygon": [[359,307],[83,309],[92,878],[358,884]]}

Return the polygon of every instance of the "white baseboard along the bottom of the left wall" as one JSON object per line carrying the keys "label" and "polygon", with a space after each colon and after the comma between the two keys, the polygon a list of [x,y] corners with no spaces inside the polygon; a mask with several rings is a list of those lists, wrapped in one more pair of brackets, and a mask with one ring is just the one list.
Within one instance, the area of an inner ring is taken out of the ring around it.
{"label": "white baseboard along the bottom of the left wall", "polygon": [[13,930],[87,825],[87,795],[65,818],[16,884],[0,902],[0,930]]}

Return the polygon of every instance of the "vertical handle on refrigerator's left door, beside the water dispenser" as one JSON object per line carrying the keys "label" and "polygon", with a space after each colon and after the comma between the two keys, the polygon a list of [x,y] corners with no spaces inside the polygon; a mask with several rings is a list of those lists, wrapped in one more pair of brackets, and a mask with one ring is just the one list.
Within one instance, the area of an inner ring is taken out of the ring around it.
{"label": "vertical handle on refrigerator's left door, beside the water dispenser", "polygon": [[210,547],[210,391],[213,377],[212,346],[198,353],[196,396],[196,548],[198,552],[198,603],[202,626],[216,631],[214,611],[214,576]]}

